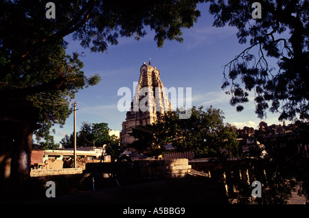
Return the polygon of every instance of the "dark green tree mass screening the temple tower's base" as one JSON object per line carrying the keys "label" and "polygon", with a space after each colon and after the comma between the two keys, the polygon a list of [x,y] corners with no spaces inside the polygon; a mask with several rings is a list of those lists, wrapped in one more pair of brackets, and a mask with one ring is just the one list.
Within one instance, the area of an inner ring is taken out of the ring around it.
{"label": "dark green tree mass screening the temple tower's base", "polygon": [[[238,141],[235,127],[223,123],[223,112],[209,107],[192,107],[189,119],[179,119],[183,111],[168,111],[162,122],[136,127],[130,135],[138,140],[130,144],[137,151],[159,155],[165,144],[178,151],[194,151],[195,157],[237,156]],[[223,152],[223,153],[222,153]]]}

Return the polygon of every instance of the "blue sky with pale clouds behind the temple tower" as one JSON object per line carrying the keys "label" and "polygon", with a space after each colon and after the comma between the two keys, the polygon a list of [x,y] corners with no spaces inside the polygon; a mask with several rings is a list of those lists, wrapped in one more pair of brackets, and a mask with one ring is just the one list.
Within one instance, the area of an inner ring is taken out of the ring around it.
{"label": "blue sky with pale clouds behind the temple tower", "polygon": [[[146,29],[147,35],[139,41],[133,38],[120,38],[118,45],[110,45],[106,53],[91,53],[83,49],[71,36],[67,54],[84,52],[81,61],[86,76],[100,74],[102,82],[94,87],[82,89],[76,94],[76,123],[79,131],[82,122],[106,122],[113,130],[122,129],[126,112],[117,109],[117,96],[121,87],[128,87],[133,92],[133,82],[139,80],[139,68],[151,58],[153,67],[160,71],[164,87],[192,87],[192,105],[221,109],[225,113],[224,122],[236,125],[258,127],[260,119],[254,113],[254,96],[244,105],[244,111],[238,113],[229,105],[229,96],[220,88],[223,78],[223,66],[248,46],[240,45],[236,37],[236,28],[212,27],[214,18],[208,12],[209,5],[198,7],[201,11],[193,28],[183,30],[183,43],[165,41],[163,48],[158,48],[153,40],[155,34]],[[275,67],[275,64],[273,64]],[[133,96],[131,96],[133,99]],[[264,121],[268,124],[279,124],[279,114],[267,113]],[[55,142],[65,134],[73,132],[73,114],[67,119],[64,128],[54,126]]]}

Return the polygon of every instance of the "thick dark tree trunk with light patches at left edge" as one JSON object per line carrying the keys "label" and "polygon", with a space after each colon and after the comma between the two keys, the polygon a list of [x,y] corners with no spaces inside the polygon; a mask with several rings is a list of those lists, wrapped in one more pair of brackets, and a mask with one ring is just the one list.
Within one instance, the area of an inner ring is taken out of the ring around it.
{"label": "thick dark tree trunk with light patches at left edge", "polygon": [[[1,100],[1,99],[0,99]],[[32,135],[40,126],[32,102],[2,99],[0,108],[0,198],[18,199],[30,177]]]}

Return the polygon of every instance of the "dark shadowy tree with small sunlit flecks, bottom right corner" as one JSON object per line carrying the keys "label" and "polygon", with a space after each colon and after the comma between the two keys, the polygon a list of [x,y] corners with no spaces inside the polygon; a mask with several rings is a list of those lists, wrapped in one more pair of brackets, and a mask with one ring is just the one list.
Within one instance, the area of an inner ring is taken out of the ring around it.
{"label": "dark shadowy tree with small sunlit flecks, bottom right corner", "polygon": [[256,175],[260,171],[256,178],[263,184],[261,204],[286,204],[297,185],[297,194],[304,195],[308,202],[308,135],[309,124],[299,121],[279,133],[255,133],[255,140],[263,144],[251,148],[251,157],[254,157],[251,164],[257,171]]}

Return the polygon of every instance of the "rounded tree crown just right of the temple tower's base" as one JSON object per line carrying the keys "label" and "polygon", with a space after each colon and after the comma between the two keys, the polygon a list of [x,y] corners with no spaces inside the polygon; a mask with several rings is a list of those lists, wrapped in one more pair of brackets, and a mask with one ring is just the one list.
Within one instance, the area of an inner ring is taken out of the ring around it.
{"label": "rounded tree crown just right of the temple tower's base", "polygon": [[[189,119],[179,119],[179,111],[173,119],[178,119],[172,127],[175,135],[173,146],[179,151],[194,151],[195,157],[219,157],[238,155],[237,133],[230,124],[224,124],[224,113],[212,106],[203,110],[203,105],[192,107]],[[183,112],[182,112],[183,113]],[[169,118],[165,118],[165,121]],[[168,122],[165,122],[168,126]],[[169,127],[168,127],[169,128]]]}

